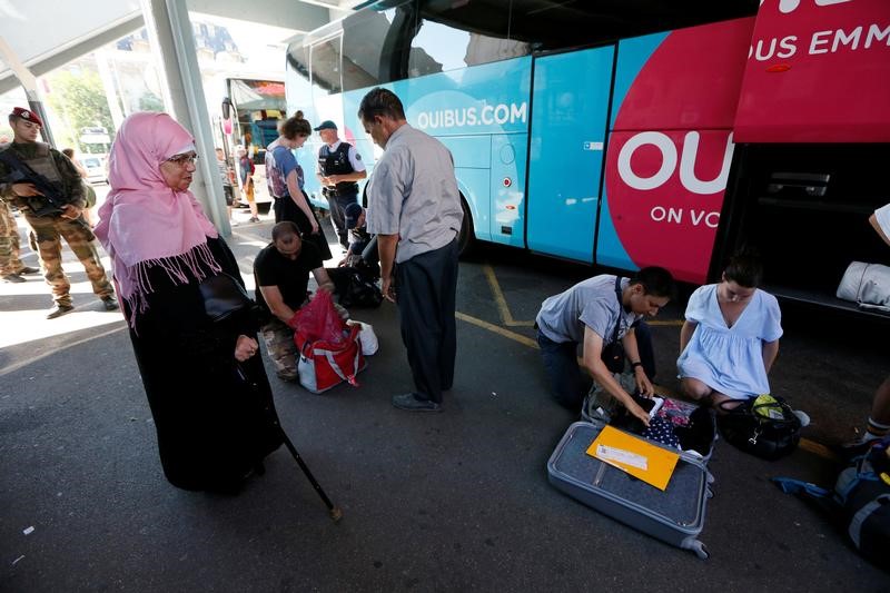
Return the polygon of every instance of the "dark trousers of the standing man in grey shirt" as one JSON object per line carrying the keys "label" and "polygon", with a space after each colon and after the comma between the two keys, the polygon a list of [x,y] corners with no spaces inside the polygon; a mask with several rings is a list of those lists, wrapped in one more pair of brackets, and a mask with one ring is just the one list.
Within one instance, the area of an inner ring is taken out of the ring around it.
{"label": "dark trousers of the standing man in grey shirt", "polygon": [[415,393],[442,403],[442,392],[454,382],[457,354],[457,239],[399,263],[396,290]]}

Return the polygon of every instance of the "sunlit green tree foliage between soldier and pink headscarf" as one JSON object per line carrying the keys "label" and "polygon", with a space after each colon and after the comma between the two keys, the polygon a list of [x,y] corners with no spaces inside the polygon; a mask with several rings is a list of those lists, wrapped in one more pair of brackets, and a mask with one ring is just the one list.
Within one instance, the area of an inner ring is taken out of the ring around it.
{"label": "sunlit green tree foliage between soldier and pink headscarf", "polygon": [[[62,70],[50,75],[47,100],[52,109],[59,113],[73,137],[80,152],[101,152],[101,145],[82,145],[80,129],[101,126],[113,137],[115,127],[111,120],[111,110],[108,99],[102,90],[102,81],[96,71],[79,69],[77,71]],[[65,135],[60,135],[60,139]]]}

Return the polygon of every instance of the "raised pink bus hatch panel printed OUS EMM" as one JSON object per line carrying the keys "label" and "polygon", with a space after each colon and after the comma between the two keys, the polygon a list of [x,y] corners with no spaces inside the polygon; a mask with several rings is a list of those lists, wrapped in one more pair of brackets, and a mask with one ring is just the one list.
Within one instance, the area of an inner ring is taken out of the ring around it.
{"label": "raised pink bus hatch panel printed OUS EMM", "polygon": [[736,142],[890,141],[890,0],[764,0]]}

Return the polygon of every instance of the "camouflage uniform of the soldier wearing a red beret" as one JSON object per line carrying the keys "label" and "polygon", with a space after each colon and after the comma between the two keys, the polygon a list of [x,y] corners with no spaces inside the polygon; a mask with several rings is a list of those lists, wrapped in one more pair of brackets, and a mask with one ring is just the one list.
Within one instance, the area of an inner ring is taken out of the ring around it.
{"label": "camouflage uniform of the soldier wearing a red beret", "polygon": [[[0,147],[0,150],[12,150],[31,169],[57,184],[67,204],[78,208],[86,206],[86,186],[80,175],[68,157],[55,148],[43,142],[13,142]],[[0,161],[0,179],[9,172],[7,164]],[[62,269],[62,237],[83,265],[92,291],[102,299],[115,296],[99,259],[96,236],[82,216],[73,220],[61,216],[34,216],[28,201],[13,194],[11,184],[0,185],[0,197],[16,205],[31,227],[31,247],[40,256],[43,277],[52,288],[57,305],[71,306],[71,283]]]}

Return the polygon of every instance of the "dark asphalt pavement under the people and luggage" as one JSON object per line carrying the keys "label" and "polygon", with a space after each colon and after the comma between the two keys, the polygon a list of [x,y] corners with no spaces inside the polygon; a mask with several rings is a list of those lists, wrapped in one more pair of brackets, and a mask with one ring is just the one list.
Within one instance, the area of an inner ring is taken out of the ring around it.
{"label": "dark asphalt pavement under the people and luggage", "polygon": [[[228,239],[248,280],[270,228],[265,216]],[[284,448],[237,497],[169,485],[122,318],[101,310],[67,249],[65,266],[78,308],[60,319],[42,318],[39,278],[0,285],[2,591],[890,591],[890,575],[769,481],[831,484],[830,447],[863,424],[888,372],[886,326],[783,309],[771,380],[813,423],[777,462],[718,442],[703,561],[547,482],[576,416],[546,394],[531,322],[590,274],[582,266],[492,247],[462,263],[442,414],[389,404],[412,385],[387,303],[353,312],[380,343],[359,387],[313,395],[267,363],[281,423],[343,508],[338,524]],[[681,318],[673,304],[654,326],[665,393]]]}

